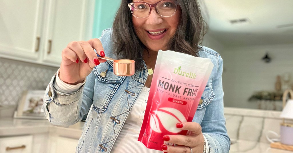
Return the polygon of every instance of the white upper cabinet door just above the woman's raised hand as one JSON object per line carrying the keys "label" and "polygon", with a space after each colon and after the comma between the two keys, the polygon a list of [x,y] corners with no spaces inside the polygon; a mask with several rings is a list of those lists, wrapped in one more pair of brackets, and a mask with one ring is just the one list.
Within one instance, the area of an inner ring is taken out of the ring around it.
{"label": "white upper cabinet door just above the woman's raised hand", "polygon": [[86,0],[50,0],[47,11],[47,28],[44,62],[60,64],[61,52],[71,41],[83,39],[87,26]]}

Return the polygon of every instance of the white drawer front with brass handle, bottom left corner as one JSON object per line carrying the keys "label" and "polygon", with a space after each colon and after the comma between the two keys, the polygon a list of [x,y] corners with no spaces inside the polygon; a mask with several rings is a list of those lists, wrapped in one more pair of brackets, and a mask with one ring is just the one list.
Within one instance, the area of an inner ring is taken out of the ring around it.
{"label": "white drawer front with brass handle, bottom left corner", "polygon": [[1,153],[31,153],[33,136],[14,136],[0,138]]}

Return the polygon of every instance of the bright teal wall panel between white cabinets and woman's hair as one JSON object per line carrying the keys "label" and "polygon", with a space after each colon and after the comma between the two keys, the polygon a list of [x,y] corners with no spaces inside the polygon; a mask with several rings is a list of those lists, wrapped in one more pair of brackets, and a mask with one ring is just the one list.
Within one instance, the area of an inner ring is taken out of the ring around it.
{"label": "bright teal wall panel between white cabinets and woman's hair", "polygon": [[121,0],[96,0],[93,20],[93,38],[99,38],[102,31],[111,28]]}

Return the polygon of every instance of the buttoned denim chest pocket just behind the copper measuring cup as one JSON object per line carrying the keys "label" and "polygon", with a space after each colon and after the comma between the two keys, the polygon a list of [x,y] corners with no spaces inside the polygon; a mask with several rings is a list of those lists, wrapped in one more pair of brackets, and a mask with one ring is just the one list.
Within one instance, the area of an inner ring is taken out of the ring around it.
{"label": "buttoned denim chest pocket just behind the copper measuring cup", "polygon": [[98,112],[104,112],[117,88],[124,81],[125,76],[115,75],[112,63],[108,61],[96,66],[93,71],[96,75],[93,109]]}

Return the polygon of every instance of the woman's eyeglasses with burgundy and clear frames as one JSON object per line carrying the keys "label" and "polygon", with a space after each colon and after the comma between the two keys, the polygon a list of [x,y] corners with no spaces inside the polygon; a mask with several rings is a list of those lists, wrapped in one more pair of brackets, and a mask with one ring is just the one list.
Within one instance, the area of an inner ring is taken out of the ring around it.
{"label": "woman's eyeglasses with burgundy and clear frames", "polygon": [[142,1],[128,3],[128,7],[134,17],[146,18],[151,14],[151,8],[154,7],[161,17],[171,17],[177,9],[177,0],[163,0],[155,4],[149,4]]}

